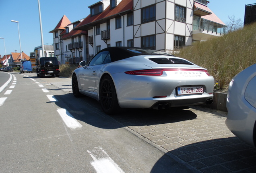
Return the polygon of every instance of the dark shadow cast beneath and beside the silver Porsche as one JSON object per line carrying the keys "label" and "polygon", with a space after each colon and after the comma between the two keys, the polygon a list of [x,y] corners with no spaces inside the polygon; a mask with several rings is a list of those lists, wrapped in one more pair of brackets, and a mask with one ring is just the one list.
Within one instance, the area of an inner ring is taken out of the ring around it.
{"label": "dark shadow cast beneath and beside the silver Porsche", "polygon": [[[159,125],[196,119],[196,114],[192,111],[179,109],[165,111],[122,109],[120,113],[108,116],[103,113],[99,103],[90,97],[75,98],[72,93],[54,97],[59,100],[56,102],[56,105],[64,109],[68,107],[70,109],[68,111],[75,119],[103,129],[116,129],[137,125]],[[117,121],[118,123],[116,123]]]}

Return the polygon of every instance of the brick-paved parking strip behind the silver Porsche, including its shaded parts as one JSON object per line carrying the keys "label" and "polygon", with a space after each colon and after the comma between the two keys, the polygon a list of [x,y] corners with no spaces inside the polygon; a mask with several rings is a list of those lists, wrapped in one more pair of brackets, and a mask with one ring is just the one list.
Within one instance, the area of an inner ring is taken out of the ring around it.
{"label": "brick-paved parking strip behind the silver Porsche, including its shaded parts", "polygon": [[255,173],[256,149],[227,129],[225,116],[225,112],[190,107],[165,111],[131,109],[113,118],[195,172]]}

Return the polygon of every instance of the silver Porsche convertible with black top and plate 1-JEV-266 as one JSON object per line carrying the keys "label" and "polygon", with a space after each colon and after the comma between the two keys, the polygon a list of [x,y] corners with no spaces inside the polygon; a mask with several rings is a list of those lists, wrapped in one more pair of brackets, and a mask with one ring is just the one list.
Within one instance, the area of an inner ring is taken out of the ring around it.
{"label": "silver Porsche convertible with black top and plate 1-JEV-266", "polygon": [[186,59],[158,50],[109,47],[72,74],[72,92],[98,100],[107,114],[121,108],[168,109],[213,102],[214,78]]}

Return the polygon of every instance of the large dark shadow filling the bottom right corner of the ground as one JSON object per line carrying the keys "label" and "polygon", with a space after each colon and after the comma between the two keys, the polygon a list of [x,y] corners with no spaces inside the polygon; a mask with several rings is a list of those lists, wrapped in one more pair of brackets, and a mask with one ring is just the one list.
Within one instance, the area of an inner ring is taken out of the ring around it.
{"label": "large dark shadow filling the bottom right corner of the ground", "polygon": [[155,173],[166,155],[176,157],[203,173],[255,173],[256,149],[237,137],[214,139],[169,151],[153,167]]}

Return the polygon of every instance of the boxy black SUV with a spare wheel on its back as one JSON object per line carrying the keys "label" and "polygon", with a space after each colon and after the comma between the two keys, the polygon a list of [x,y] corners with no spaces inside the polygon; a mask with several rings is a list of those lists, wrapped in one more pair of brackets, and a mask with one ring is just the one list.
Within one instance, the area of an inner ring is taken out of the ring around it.
{"label": "boxy black SUV with a spare wheel on its back", "polygon": [[37,77],[45,76],[50,74],[52,76],[60,77],[60,69],[58,59],[56,57],[41,57],[37,59]]}

